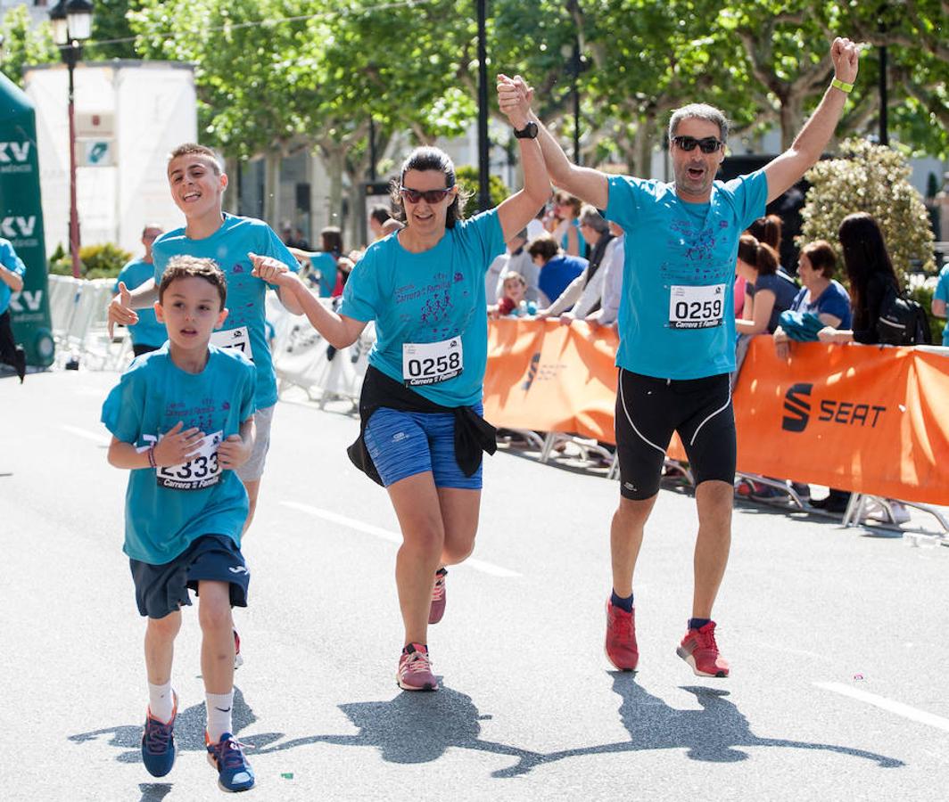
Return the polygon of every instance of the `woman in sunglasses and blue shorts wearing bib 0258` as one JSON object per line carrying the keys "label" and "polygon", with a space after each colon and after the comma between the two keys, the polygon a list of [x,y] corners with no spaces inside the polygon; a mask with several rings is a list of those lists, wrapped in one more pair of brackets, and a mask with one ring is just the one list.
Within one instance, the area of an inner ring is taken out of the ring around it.
{"label": "woman in sunglasses and blue shorts wearing bib 0258", "polygon": [[[500,75],[497,91],[503,104],[518,90]],[[524,189],[463,220],[452,160],[437,148],[413,151],[394,188],[405,227],[368,247],[349,276],[339,314],[292,273],[262,276],[292,287],[307,318],[337,348],[375,321],[362,429],[349,455],[386,487],[399,518],[396,584],[405,636],[397,682],[404,690],[437,689],[428,625],[445,609],[445,566],[474,548],[481,453],[494,450],[494,430],[481,417],[485,273],[550,193],[536,124],[516,109],[508,118],[520,143]]]}

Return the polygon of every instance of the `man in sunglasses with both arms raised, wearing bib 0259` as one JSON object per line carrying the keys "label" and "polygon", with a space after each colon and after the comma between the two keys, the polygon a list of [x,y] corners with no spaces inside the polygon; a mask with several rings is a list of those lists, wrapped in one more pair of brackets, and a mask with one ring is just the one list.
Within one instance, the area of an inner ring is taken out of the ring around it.
{"label": "man in sunglasses with both arms raised, wearing bib 0259", "polygon": [[[827,147],[857,77],[858,48],[837,38],[829,60],[834,79],[791,147],[764,169],[727,183],[715,176],[725,157],[728,120],[712,106],[691,104],[672,115],[672,184],[571,164],[545,126],[537,126],[552,183],[605,210],[630,243],[616,357],[621,498],[610,530],[613,592],[606,602],[606,655],[617,668],[633,670],[639,662],[633,572],[665,451],[678,431],[697,483],[698,537],[692,616],[677,652],[698,676],[728,676],[712,606],[731,544],[735,254],[741,232]],[[530,112],[532,90],[517,81],[521,92],[511,102],[539,123]]]}

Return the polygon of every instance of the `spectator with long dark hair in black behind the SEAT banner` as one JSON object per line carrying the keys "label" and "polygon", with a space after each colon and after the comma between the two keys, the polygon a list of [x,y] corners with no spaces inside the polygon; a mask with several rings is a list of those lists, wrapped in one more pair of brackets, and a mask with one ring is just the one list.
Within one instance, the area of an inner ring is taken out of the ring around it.
{"label": "spectator with long dark hair in black behind the SEAT banner", "polygon": [[826,326],[817,333],[821,342],[880,342],[877,321],[887,290],[900,292],[900,280],[886,250],[883,231],[865,211],[848,214],[837,232],[844,249],[844,267],[850,283],[853,328]]}

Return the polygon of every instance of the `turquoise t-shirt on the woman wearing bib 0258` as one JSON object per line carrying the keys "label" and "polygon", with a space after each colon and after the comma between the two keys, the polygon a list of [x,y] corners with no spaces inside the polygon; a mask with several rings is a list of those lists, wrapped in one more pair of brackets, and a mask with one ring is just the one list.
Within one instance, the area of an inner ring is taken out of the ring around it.
{"label": "turquoise t-shirt on the woman wearing bib 0258", "polygon": [[[376,343],[369,364],[404,381],[403,344],[444,343],[461,337],[461,373],[412,387],[445,407],[470,407],[481,400],[488,359],[488,315],[484,275],[499,253],[504,235],[497,210],[458,221],[445,229],[437,246],[410,253],[398,233],[373,243],[349,274],[340,314],[376,321]],[[419,349],[419,374],[426,374],[425,349]],[[437,356],[430,357],[437,362]],[[454,357],[453,357],[454,359]],[[445,365],[449,363],[446,361]]]}

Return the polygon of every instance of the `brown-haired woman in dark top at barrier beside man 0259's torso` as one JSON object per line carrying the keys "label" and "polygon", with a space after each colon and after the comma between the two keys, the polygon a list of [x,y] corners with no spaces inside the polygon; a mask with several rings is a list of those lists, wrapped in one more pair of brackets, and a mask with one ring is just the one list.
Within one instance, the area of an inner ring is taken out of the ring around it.
{"label": "brown-haired woman in dark top at barrier beside man 0259's torso", "polygon": [[738,240],[735,270],[745,279],[745,308],[741,319],[735,320],[739,335],[773,334],[778,317],[797,295],[797,285],[778,271],[777,251],[758,242],[751,234]]}

